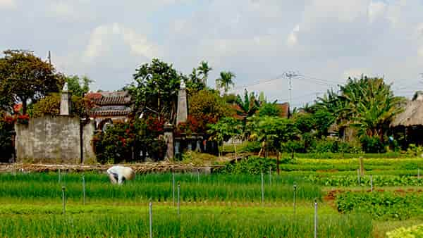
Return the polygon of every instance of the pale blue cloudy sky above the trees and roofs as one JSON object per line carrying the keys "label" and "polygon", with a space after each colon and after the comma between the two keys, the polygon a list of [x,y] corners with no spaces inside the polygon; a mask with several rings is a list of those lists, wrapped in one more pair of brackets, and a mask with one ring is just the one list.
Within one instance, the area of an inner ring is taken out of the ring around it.
{"label": "pale blue cloudy sky above the trees and roofs", "polygon": [[0,50],[27,49],[93,91],[129,84],[152,58],[208,84],[235,73],[246,88],[292,107],[348,77],[384,77],[397,95],[423,89],[423,0],[0,0]]}

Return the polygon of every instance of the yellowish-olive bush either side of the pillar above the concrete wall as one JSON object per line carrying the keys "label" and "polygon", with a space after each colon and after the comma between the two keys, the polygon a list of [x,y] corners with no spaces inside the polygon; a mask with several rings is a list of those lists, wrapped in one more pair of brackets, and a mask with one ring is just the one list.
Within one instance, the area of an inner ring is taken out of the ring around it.
{"label": "yellowish-olive bush either side of the pillar above the concrete wall", "polygon": [[[87,115],[86,106],[87,101],[79,96],[72,95],[71,98],[72,106],[71,113],[72,115],[78,115],[83,118]],[[61,96],[58,93],[52,93],[48,96],[45,96],[42,99],[39,99],[35,104],[32,104],[31,108],[28,108],[28,113],[32,118],[39,118],[44,115],[60,115],[60,102]]]}

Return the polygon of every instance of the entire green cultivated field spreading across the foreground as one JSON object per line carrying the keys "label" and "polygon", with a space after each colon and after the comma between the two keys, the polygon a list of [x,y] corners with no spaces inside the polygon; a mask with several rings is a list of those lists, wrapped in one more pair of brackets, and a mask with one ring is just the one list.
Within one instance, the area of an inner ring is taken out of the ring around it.
{"label": "entire green cultivated field spreading across the foreground", "polygon": [[[300,159],[263,180],[138,174],[122,186],[104,173],[2,173],[0,237],[149,237],[150,202],[152,237],[313,237],[315,214],[317,237],[386,237],[423,223],[421,159],[376,160],[386,170],[360,178],[357,159]],[[305,162],[331,170],[304,170]]]}

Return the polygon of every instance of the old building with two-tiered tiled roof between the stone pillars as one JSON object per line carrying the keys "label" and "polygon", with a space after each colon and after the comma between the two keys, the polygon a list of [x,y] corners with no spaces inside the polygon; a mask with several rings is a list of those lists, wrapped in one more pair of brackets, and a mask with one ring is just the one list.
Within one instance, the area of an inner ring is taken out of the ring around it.
{"label": "old building with two-tiered tiled roof between the stone pillars", "polygon": [[105,130],[107,125],[117,121],[127,121],[133,111],[128,91],[90,92],[85,98],[90,101],[87,111],[95,120],[97,130]]}

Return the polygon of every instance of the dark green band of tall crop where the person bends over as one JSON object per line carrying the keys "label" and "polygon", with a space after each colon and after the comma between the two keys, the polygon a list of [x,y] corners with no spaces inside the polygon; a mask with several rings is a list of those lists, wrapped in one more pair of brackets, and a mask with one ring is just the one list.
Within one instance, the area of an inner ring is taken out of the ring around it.
{"label": "dark green band of tall crop where the person bends over", "polygon": [[[0,176],[0,197],[9,199],[60,199],[61,187],[66,187],[66,197],[81,201],[82,180],[78,174],[18,174]],[[177,175],[180,183],[180,201],[238,201],[261,202],[260,176],[247,175]],[[266,202],[292,201],[295,177],[266,176],[264,197]],[[110,184],[106,175],[85,175],[87,199],[91,201],[173,201],[172,175],[139,175],[135,181],[123,186]],[[177,190],[177,189],[175,189]],[[298,180],[296,193],[299,201],[321,199],[321,189],[313,184]]]}

